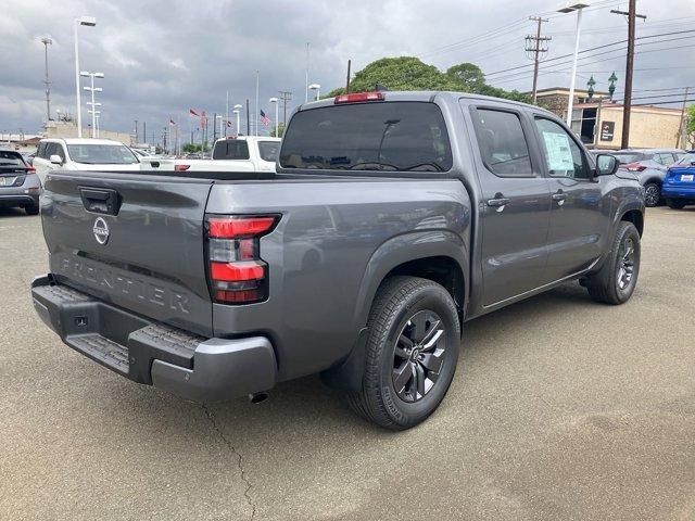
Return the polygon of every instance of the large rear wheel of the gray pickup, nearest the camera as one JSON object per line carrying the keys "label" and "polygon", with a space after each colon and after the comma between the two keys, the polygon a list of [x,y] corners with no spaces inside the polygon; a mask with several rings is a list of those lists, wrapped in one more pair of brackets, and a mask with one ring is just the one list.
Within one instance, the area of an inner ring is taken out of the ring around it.
{"label": "large rear wheel of the gray pickup, nearest the camera", "polygon": [[[377,292],[367,326],[362,390],[345,394],[345,402],[383,428],[400,431],[417,425],[437,409],[456,371],[460,343],[456,305],[448,292],[431,280],[391,277]],[[420,332],[425,333],[421,341],[409,340],[408,335],[417,339]],[[428,348],[432,339],[434,346]],[[428,369],[433,365],[439,369]],[[410,369],[410,377],[406,377]],[[394,382],[402,382],[402,377],[409,380],[396,390]]]}

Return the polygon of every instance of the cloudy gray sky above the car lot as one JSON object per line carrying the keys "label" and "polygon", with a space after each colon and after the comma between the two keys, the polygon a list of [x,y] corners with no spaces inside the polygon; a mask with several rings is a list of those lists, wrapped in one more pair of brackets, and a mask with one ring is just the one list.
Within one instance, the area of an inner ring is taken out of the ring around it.
{"label": "cloudy gray sky above the car lot", "polygon": [[[581,49],[627,37],[626,20],[610,14],[611,9],[626,10],[627,0],[587,2],[592,7],[583,15]],[[151,131],[163,128],[169,116],[187,127],[189,107],[224,112],[227,91],[232,104],[247,98],[253,103],[256,69],[261,107],[271,117],[267,100],[278,90],[293,92],[291,106],[304,101],[306,42],[309,80],[324,91],[344,84],[348,59],[354,72],[397,55],[416,55],[440,68],[473,62],[489,74],[490,84],[530,90],[532,67],[523,37],[534,31],[528,16],[538,14],[549,20],[543,33],[553,38],[540,87],[567,86],[570,64],[561,56],[573,50],[576,16],[556,13],[563,3],[0,0],[0,131],[35,132],[46,118],[41,36],[53,39],[51,107],[75,112],[73,27],[81,15],[97,17],[96,27],[80,27],[79,52],[80,68],[105,74],[100,84],[102,128],[131,131],[138,119]],[[635,103],[674,100],[677,88],[695,87],[695,0],[639,0],[637,11],[647,21],[637,23],[637,36],[646,38],[637,40]],[[623,48],[617,43],[582,54],[578,87],[593,74],[596,89],[605,90],[615,69],[620,94]]]}

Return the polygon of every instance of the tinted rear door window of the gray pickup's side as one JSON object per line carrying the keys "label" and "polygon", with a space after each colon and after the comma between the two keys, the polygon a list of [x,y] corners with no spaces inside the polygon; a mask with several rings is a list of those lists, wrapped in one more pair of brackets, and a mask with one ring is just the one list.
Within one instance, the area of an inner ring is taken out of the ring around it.
{"label": "tinted rear door window of the gray pickup's side", "polygon": [[529,145],[518,115],[477,109],[473,119],[480,154],[490,171],[500,177],[533,176]]}

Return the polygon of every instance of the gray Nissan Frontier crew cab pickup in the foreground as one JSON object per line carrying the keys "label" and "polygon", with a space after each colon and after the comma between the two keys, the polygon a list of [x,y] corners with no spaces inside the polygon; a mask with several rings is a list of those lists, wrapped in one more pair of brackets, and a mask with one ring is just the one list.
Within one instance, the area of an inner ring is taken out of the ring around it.
{"label": "gray Nissan Frontier crew cab pickup in the foreground", "polygon": [[464,321],[570,280],[630,298],[644,190],[542,109],[369,92],[295,111],[277,173],[51,171],[41,219],[34,305],[72,348],[200,402],[321,373],[399,430]]}

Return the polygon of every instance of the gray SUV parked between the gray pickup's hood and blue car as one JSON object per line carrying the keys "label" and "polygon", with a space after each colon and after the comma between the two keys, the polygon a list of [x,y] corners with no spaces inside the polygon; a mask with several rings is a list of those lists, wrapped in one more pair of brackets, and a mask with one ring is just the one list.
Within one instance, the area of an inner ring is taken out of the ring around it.
{"label": "gray SUV parked between the gray pickup's hood and blue car", "polygon": [[637,176],[646,192],[647,206],[662,203],[661,185],[667,168],[679,161],[684,150],[678,149],[626,149],[611,152],[618,157],[620,167]]}

